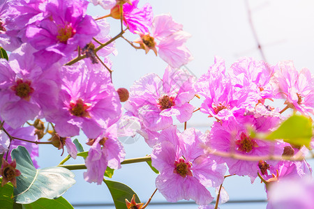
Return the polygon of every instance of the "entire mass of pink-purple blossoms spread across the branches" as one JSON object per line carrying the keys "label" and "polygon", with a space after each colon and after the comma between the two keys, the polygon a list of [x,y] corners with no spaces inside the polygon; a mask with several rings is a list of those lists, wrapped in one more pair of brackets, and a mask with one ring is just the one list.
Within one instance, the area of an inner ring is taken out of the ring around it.
{"label": "entire mass of pink-purple blossoms spread across the branches", "polygon": [[[107,17],[121,19],[121,33],[140,36],[128,41],[133,47],[146,53],[151,49],[168,64],[163,77],[150,73],[140,78],[130,87],[129,98],[124,90],[115,90],[108,55],[117,50],[110,42],[110,25],[87,15],[89,1],[1,1],[0,44],[11,53],[8,61],[0,59],[0,122],[26,141],[10,141],[0,129],[0,154],[22,145],[31,157],[38,156],[38,147],[27,143],[39,140],[36,128],[22,126],[45,118],[54,127],[52,140],[59,140],[57,147],[66,146],[73,158],[77,150],[70,138],[84,132],[90,146],[84,179],[101,184],[107,167],[119,169],[125,158],[119,135],[137,132],[153,148],[151,163],[160,172],[156,187],[165,199],[193,199],[203,208],[214,199],[207,187],[222,184],[227,169],[252,183],[257,176],[267,182],[311,176],[305,160],[263,160],[267,155],[303,154],[306,148],[252,134],[271,132],[285,119],[269,105],[276,99],[306,116],[314,114],[314,77],[308,69],[299,72],[291,61],[269,65],[243,58],[226,70],[223,59],[216,57],[196,79],[180,68],[192,59],[185,45],[190,34],[170,15],[154,17],[150,4],[139,8],[139,0],[91,2],[107,10]],[[100,42],[110,44],[102,47]],[[76,56],[87,59],[68,64]],[[180,131],[174,120],[190,120],[197,111],[190,101],[198,95],[203,97],[200,111],[216,121],[204,134],[195,128]],[[128,98],[125,112],[121,98]],[[124,121],[136,121],[140,128],[121,133]],[[214,150],[261,159],[237,160],[213,155]]]}

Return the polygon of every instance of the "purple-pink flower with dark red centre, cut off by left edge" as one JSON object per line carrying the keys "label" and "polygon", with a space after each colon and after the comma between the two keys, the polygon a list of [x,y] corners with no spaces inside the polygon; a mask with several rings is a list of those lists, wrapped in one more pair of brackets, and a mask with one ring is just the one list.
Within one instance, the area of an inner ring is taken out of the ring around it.
{"label": "purple-pink flower with dark red centre, cut off by left edge", "polygon": [[42,117],[57,104],[57,69],[52,66],[42,72],[34,62],[33,51],[24,44],[10,54],[10,62],[0,60],[0,116],[13,128]]}

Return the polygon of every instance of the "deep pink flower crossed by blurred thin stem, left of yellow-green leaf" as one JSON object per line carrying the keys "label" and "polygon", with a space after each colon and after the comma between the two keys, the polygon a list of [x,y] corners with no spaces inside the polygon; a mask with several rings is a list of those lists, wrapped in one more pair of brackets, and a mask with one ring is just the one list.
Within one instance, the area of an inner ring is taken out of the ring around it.
{"label": "deep pink flower crossed by blurred thin stem, left of yellow-green leaf", "polygon": [[[268,132],[278,125],[280,119],[275,117],[254,118],[253,116],[242,116],[232,118],[223,123],[215,122],[211,127],[210,139],[207,141],[209,148],[225,153],[234,152],[240,155],[266,156],[274,148],[274,155],[281,155],[283,149],[280,142],[271,144],[269,141],[255,139],[248,134],[248,127],[256,132]],[[249,176],[253,183],[260,171],[258,162],[236,160],[225,157],[215,157],[218,162],[226,162],[229,173],[239,176]]]}

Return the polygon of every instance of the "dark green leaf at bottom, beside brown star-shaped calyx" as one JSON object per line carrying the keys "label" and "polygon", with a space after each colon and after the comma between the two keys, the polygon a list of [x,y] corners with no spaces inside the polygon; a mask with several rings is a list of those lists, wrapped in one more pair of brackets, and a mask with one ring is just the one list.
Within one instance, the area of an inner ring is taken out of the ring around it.
{"label": "dark green leaf at bottom, beside brown star-shaped calyx", "polygon": [[[104,182],[111,193],[116,209],[126,209],[126,199],[130,201],[135,192],[123,183],[112,180],[104,180]],[[135,201],[140,203],[140,199],[138,198],[137,194],[135,194]]]}

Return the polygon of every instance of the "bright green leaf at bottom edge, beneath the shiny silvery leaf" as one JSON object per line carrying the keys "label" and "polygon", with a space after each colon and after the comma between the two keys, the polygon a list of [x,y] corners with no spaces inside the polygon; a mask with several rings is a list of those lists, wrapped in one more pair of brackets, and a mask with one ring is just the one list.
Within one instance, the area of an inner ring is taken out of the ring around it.
{"label": "bright green leaf at bottom edge, beneath the shiny silvery leaf", "polygon": [[55,209],[55,208],[65,208],[65,209],[73,209],[73,206],[66,201],[62,196],[58,199],[45,199],[40,198],[37,201],[23,205],[25,209],[33,209],[33,208],[45,208],[45,209]]}

